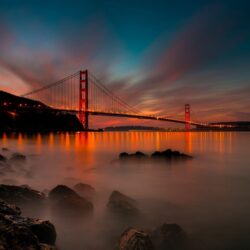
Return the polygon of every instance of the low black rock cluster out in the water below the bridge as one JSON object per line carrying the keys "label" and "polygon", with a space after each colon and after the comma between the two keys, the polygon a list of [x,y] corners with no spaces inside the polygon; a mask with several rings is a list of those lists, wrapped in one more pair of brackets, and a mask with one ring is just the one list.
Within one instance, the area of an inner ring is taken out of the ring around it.
{"label": "low black rock cluster out in the water below the bridge", "polygon": [[122,152],[119,155],[119,159],[122,161],[127,160],[179,160],[179,159],[191,159],[192,156],[181,153],[179,151],[173,151],[167,149],[164,151],[155,151],[151,155],[144,154],[143,152],[137,151],[135,153],[129,154],[127,152]]}

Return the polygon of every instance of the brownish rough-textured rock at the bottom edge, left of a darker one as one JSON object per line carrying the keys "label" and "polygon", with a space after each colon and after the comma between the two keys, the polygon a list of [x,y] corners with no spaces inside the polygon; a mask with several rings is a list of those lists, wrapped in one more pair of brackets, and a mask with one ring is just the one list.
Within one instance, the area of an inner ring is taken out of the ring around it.
{"label": "brownish rough-textured rock at the bottom edge, left of a darker one", "polygon": [[[120,237],[119,250],[153,250],[147,233],[135,228],[127,229]],[[167,250],[167,249],[165,249]]]}

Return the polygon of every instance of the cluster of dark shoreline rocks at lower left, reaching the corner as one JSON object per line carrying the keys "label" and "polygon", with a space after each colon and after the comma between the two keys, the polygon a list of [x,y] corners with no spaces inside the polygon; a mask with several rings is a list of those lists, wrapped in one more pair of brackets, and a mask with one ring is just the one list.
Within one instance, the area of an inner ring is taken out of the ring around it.
{"label": "cluster of dark shoreline rocks at lower left, reaching the corner", "polygon": [[[90,195],[94,189],[83,183],[77,189]],[[15,204],[15,205],[14,205]],[[17,206],[18,205],[18,206]],[[56,230],[49,221],[21,216],[21,209],[51,208],[60,218],[79,218],[93,211],[93,204],[73,189],[58,185],[48,197],[30,187],[0,185],[0,249],[55,250]],[[37,211],[36,211],[37,212]]]}

